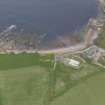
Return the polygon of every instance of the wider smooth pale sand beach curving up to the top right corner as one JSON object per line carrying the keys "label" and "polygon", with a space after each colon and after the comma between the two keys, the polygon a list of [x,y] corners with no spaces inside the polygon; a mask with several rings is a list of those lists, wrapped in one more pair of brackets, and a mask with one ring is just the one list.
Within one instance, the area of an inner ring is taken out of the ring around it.
{"label": "wider smooth pale sand beach curving up to the top right corner", "polygon": [[[101,15],[105,16],[105,1],[104,0],[98,0],[98,7],[101,8]],[[97,8],[98,8],[97,7]],[[101,21],[101,22],[100,22]],[[63,47],[63,48],[55,48],[55,49],[49,49],[49,50],[38,50],[37,52],[40,54],[49,54],[49,53],[72,53],[75,51],[81,51],[88,47],[89,45],[94,43],[94,40],[99,37],[99,34],[102,31],[102,28],[104,26],[105,19],[101,18],[101,16],[97,16],[95,18],[90,18],[88,22],[89,27],[87,33],[84,35],[84,41],[81,43],[78,43],[76,45],[70,46],[70,47]]]}

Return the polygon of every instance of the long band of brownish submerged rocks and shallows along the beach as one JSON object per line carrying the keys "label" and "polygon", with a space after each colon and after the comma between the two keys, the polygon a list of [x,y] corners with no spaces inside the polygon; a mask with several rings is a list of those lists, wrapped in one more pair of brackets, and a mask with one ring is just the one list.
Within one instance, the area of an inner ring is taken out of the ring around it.
{"label": "long band of brownish submerged rocks and shallows along the beach", "polygon": [[[51,35],[51,36],[50,36]],[[35,50],[54,49],[68,47],[79,43],[81,39],[77,36],[59,36],[52,34],[37,35],[35,33],[11,32],[3,35],[0,40],[0,48],[5,50]]]}

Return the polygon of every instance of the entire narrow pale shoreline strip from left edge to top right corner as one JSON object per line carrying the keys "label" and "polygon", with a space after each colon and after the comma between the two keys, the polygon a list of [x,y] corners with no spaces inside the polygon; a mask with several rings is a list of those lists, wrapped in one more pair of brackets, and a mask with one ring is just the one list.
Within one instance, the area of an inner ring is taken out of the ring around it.
{"label": "entire narrow pale shoreline strip from left edge to top right corner", "polygon": [[[80,43],[77,43],[72,46],[68,47],[61,47],[61,48],[54,48],[54,49],[48,49],[48,50],[38,50],[38,49],[23,49],[23,50],[18,50],[18,49],[5,49],[0,51],[0,54],[6,54],[6,53],[14,53],[14,54],[19,54],[19,53],[39,53],[39,54],[50,54],[50,53],[73,53],[76,51],[81,51],[88,47],[89,45],[94,43],[94,40],[98,38],[99,34],[102,31],[102,28],[104,26],[105,22],[105,1],[104,0],[98,0],[98,7],[101,9],[100,15],[102,16],[97,16],[96,18],[90,18],[89,22],[86,26],[88,26],[88,31],[85,32],[83,36],[83,41]],[[98,8],[97,7],[97,8]],[[104,18],[103,18],[104,16]],[[86,27],[87,29],[87,27]]]}

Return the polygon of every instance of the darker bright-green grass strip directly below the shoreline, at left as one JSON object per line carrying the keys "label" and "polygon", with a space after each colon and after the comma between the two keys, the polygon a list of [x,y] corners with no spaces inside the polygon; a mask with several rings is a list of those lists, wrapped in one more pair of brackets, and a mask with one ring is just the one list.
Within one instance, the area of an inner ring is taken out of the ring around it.
{"label": "darker bright-green grass strip directly below the shoreline, at left", "polygon": [[45,66],[52,55],[40,56],[39,54],[0,54],[0,70],[30,67],[35,65]]}

